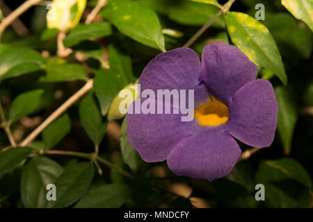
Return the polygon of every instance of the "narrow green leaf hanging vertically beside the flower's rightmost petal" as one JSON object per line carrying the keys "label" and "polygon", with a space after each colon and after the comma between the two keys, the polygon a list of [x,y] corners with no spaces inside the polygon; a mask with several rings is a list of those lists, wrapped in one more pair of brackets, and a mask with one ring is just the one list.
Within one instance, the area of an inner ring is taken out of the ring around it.
{"label": "narrow green leaf hanging vertically beside the flower's rightmost petal", "polygon": [[284,153],[289,154],[298,119],[296,98],[294,97],[294,90],[290,87],[275,87],[275,94],[279,105],[278,133],[284,145]]}

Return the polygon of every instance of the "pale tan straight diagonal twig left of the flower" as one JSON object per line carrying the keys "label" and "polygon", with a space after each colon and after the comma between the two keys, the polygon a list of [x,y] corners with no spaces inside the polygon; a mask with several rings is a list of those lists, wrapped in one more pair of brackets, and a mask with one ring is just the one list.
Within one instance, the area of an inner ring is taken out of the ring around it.
{"label": "pale tan straight diagonal twig left of the flower", "polygon": [[50,123],[52,123],[54,120],[56,120],[58,117],[63,114],[68,108],[70,108],[74,103],[79,101],[83,95],[85,95],[87,92],[90,91],[90,89],[93,88],[93,79],[88,80],[88,82],[79,89],[74,95],[70,97],[70,99],[67,99],[65,103],[63,103],[57,110],[55,110],[45,121],[43,121],[38,128],[33,130],[33,132],[26,137],[20,144],[20,146],[27,146],[29,145],[35,137],[38,137],[38,135],[44,130],[47,126],[49,126]]}

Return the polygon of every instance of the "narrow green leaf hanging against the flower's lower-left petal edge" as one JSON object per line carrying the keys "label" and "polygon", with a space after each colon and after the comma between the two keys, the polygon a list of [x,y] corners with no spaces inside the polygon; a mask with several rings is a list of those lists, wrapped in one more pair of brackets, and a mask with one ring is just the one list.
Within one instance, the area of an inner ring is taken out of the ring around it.
{"label": "narrow green leaf hanging against the flower's lower-left petal edge", "polygon": [[122,152],[122,160],[130,167],[132,171],[138,173],[143,167],[143,160],[138,152],[129,144],[127,138],[127,121],[126,118],[122,123],[121,135],[120,135],[120,148]]}

